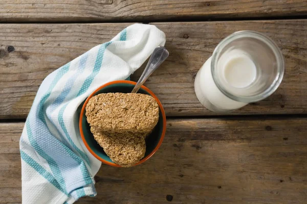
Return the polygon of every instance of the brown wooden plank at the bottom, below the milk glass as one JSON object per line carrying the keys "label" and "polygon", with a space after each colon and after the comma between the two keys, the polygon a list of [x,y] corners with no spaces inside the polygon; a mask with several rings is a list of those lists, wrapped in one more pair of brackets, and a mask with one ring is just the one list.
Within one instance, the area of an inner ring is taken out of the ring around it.
{"label": "brown wooden plank at the bottom, below the milk glass", "polygon": [[[306,124],[306,118],[286,117],[169,119],[152,158],[133,168],[102,165],[95,177],[98,195],[77,203],[168,203],[172,197],[172,203],[303,204]],[[1,123],[0,129],[17,137],[22,126]],[[20,202],[20,192],[2,195],[7,186],[20,188],[19,155],[0,156],[0,203]]]}

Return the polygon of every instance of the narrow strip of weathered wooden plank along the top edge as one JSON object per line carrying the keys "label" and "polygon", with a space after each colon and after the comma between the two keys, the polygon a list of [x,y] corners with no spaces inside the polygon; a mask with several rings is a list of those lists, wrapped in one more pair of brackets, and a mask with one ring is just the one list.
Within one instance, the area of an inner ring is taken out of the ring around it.
{"label": "narrow strip of weathered wooden plank along the top edge", "polygon": [[152,21],[306,15],[304,0],[3,0],[2,22]]}

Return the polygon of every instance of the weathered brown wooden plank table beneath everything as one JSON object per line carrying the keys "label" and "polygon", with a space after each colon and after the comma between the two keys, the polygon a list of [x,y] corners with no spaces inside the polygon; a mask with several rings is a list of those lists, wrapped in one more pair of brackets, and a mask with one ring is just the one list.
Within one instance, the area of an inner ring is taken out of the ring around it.
{"label": "weathered brown wooden plank table beneath everything", "polygon": [[[145,84],[165,107],[167,133],[142,165],[102,165],[98,195],[77,203],[307,203],[306,16],[305,0],[3,0],[0,203],[21,202],[19,138],[42,80],[131,22],[167,37],[170,56]],[[286,72],[269,98],[216,115],[197,100],[195,74],[239,30],[270,36]]]}

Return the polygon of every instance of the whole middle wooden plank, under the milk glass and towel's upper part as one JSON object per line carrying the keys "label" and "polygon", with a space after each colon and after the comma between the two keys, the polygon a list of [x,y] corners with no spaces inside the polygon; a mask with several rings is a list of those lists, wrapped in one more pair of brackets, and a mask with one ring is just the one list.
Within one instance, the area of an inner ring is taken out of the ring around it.
{"label": "whole middle wooden plank, under the milk glass and towel's upper part", "polygon": [[[0,118],[26,118],[42,80],[128,24],[0,24]],[[286,58],[280,88],[269,98],[231,114],[300,114],[307,109],[307,20],[155,23],[170,56],[146,82],[168,116],[212,115],[194,94],[194,77],[215,46],[239,30],[273,38]],[[26,37],[28,36],[28,37]],[[15,51],[7,52],[9,45]],[[131,79],[137,81],[143,69]]]}

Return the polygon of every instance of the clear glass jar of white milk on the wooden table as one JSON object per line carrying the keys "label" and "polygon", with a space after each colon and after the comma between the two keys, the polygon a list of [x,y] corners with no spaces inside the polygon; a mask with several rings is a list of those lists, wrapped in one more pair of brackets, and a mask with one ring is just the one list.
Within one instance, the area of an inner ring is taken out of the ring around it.
{"label": "clear glass jar of white milk on the wooden table", "polygon": [[280,85],[284,60],[274,41],[253,31],[226,37],[195,78],[203,106],[227,113],[271,95]]}

